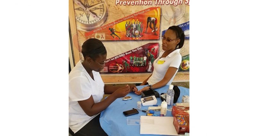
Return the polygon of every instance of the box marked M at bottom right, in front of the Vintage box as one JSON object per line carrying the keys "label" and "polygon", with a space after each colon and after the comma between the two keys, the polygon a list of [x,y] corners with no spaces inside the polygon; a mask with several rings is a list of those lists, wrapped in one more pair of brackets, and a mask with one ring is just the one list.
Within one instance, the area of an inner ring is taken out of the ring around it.
{"label": "box marked M at bottom right, in front of the Vintage box", "polygon": [[183,115],[175,115],[173,119],[173,125],[177,134],[185,134],[188,132],[189,124]]}

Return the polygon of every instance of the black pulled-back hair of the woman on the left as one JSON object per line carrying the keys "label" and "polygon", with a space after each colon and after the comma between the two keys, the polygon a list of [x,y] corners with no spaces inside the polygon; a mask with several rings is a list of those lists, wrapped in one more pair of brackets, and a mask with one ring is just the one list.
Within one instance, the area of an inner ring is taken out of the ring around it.
{"label": "black pulled-back hair of the woman on the left", "polygon": [[103,43],[96,39],[96,38],[91,38],[86,40],[83,45],[82,45],[82,54],[83,57],[89,56],[92,59],[96,59],[99,55],[105,55],[107,54],[107,50]]}

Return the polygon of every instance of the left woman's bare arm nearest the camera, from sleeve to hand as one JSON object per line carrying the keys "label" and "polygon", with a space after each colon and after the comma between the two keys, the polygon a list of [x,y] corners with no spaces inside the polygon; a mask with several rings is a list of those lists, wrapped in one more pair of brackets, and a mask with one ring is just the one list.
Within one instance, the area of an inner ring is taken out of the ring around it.
{"label": "left woman's bare arm nearest the camera, from sleeve to hand", "polygon": [[89,99],[78,101],[79,105],[83,111],[88,116],[93,116],[101,111],[105,110],[116,98],[124,97],[130,92],[130,87],[128,85],[117,89],[114,93],[108,96],[105,100],[94,103],[92,96]]}

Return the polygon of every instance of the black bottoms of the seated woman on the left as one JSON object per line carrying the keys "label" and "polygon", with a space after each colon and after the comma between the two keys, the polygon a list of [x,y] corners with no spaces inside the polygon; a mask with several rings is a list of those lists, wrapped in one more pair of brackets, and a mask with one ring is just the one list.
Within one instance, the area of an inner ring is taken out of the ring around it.
{"label": "black bottoms of the seated woman on the left", "polygon": [[71,133],[73,136],[108,136],[107,133],[100,126],[99,116],[100,114],[93,118],[89,123],[87,123],[76,133],[74,133],[69,128],[69,133]]}

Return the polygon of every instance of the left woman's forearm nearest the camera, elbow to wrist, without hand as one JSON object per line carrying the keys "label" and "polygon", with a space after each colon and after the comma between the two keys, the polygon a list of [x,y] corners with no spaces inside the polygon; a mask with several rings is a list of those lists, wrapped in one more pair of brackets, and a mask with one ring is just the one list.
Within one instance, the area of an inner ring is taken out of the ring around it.
{"label": "left woman's forearm nearest the camera, elbow to wrist, without hand", "polygon": [[96,115],[103,110],[105,110],[113,101],[115,101],[116,97],[114,94],[108,96],[105,100],[95,103],[92,105],[91,109],[88,110],[88,113],[86,113],[89,116]]}

